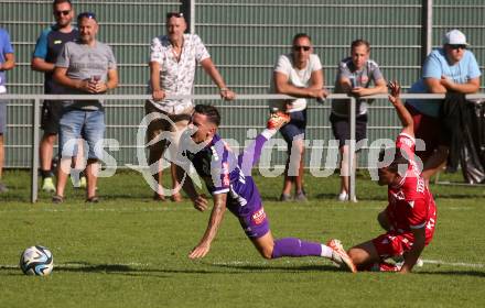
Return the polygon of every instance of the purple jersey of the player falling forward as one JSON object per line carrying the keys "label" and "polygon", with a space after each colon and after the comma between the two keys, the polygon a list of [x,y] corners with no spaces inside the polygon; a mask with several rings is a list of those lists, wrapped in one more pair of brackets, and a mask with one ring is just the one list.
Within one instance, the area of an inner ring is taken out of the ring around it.
{"label": "purple jersey of the player falling forward", "polygon": [[[254,161],[258,161],[266,141],[260,135],[255,141],[259,151],[251,153],[257,156],[252,157]],[[186,156],[212,195],[227,193],[227,208],[238,218],[252,213],[261,206],[261,196],[252,177],[245,175],[241,169],[244,155],[236,157],[219,135],[214,135],[212,142],[195,154],[186,151]]]}

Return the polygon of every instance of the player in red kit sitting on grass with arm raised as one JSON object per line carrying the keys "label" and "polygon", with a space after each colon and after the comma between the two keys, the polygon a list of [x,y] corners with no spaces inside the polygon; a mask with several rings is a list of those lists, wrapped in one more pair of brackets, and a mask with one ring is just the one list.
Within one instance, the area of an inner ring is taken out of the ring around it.
{"label": "player in red kit sitting on grass with arm raised", "polygon": [[[433,238],[436,207],[413,160],[413,121],[399,99],[400,86],[390,82],[389,88],[389,100],[403,129],[396,148],[388,148],[379,160],[379,185],[388,185],[389,205],[379,213],[378,221],[387,233],[352,248],[348,255],[358,270],[408,273]],[[387,263],[389,257],[403,257],[403,264]]]}

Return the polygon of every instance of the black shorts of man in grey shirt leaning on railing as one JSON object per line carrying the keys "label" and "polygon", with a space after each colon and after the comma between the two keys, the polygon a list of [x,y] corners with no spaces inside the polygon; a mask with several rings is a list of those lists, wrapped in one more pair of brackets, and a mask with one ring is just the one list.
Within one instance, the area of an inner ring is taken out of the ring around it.
{"label": "black shorts of man in grey shirt leaning on railing", "polygon": [[[334,113],[330,116],[332,132],[338,140],[338,147],[345,145],[346,140],[351,140],[351,123],[348,118],[340,117]],[[355,141],[359,142],[367,138],[367,114],[360,114],[355,118]]]}

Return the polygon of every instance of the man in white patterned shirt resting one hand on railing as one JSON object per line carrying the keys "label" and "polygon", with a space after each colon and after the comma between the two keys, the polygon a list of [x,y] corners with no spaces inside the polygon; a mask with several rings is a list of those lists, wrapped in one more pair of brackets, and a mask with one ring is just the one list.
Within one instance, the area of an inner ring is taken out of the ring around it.
{"label": "man in white patterned shirt resting one hand on railing", "polygon": [[[158,190],[153,199],[163,201],[165,194],[162,185],[162,156],[170,143],[173,151],[177,150],[180,133],[187,127],[193,111],[191,99],[166,99],[168,95],[192,95],[196,65],[201,64],[205,73],[213,79],[220,91],[220,97],[226,100],[235,98],[214,66],[211,55],[205,48],[201,37],[196,34],[184,34],[187,24],[183,13],[170,12],[166,14],[166,35],[157,36],[151,43],[150,53],[150,85],[152,99],[146,103],[146,113],[150,121],[147,130],[148,142],[160,136],[162,132],[170,132],[170,140],[150,145],[150,172]],[[175,124],[173,127],[172,124]],[[174,156],[172,153],[171,156]],[[182,199],[176,180],[176,166],[171,164],[173,201]]]}

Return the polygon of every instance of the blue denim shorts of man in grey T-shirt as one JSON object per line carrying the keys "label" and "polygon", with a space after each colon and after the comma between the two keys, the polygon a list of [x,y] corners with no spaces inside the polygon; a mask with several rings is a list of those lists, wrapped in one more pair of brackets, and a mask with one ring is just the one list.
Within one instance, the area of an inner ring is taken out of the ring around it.
{"label": "blue denim shorts of man in grey T-shirt", "polygon": [[88,160],[103,157],[103,136],[105,134],[105,112],[67,110],[60,122],[61,157],[73,157],[77,154],[77,140],[82,136],[88,146]]}

